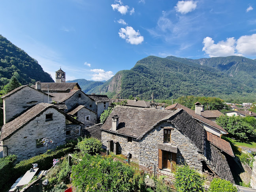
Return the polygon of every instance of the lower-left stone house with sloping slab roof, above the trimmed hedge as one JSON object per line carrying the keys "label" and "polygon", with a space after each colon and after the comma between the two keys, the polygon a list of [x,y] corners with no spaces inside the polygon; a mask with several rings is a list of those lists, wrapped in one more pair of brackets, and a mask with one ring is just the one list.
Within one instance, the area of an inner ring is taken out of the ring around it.
{"label": "lower-left stone house with sloping slab roof, above the trimmed hedge", "polygon": [[40,103],[22,115],[4,124],[0,142],[4,156],[17,154],[18,160],[28,159],[47,151],[40,141],[53,140],[48,149],[66,143],[66,139],[76,139],[81,135],[83,123],[57,109],[53,104]]}

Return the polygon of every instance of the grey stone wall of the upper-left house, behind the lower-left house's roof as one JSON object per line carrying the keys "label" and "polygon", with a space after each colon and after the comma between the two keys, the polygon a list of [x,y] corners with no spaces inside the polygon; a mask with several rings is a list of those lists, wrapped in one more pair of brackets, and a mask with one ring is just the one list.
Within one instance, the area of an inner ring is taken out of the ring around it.
{"label": "grey stone wall of the upper-left house, behind the lower-left house's roof", "polygon": [[[51,97],[49,97],[49,100],[51,101]],[[4,124],[28,109],[28,107],[39,103],[48,103],[48,96],[28,86],[4,98]]]}

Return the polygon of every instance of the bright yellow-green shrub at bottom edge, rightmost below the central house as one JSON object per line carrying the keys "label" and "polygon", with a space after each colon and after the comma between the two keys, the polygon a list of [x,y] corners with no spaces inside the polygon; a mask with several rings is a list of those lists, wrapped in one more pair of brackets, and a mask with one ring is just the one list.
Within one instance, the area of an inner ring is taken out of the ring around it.
{"label": "bright yellow-green shrub at bottom edge, rightmost below the central house", "polygon": [[237,188],[230,183],[230,181],[226,181],[223,179],[213,179],[210,184],[209,192],[237,192]]}

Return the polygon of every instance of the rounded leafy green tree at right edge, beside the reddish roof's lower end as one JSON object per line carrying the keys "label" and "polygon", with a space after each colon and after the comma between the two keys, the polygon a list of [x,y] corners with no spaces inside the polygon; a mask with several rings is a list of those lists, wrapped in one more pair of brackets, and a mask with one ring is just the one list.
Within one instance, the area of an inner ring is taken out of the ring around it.
{"label": "rounded leafy green tree at right edge, beside the reddish roof's lower end", "polygon": [[248,141],[256,136],[254,127],[239,116],[222,115],[216,119],[216,123],[228,132],[227,137],[234,137],[239,141]]}

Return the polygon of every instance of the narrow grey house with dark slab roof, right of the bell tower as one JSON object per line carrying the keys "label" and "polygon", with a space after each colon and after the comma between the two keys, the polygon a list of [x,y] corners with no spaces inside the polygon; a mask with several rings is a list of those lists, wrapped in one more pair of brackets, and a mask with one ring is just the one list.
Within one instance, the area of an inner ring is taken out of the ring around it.
{"label": "narrow grey house with dark slab roof, right of the bell tower", "polygon": [[103,111],[109,107],[109,101],[111,100],[106,95],[91,94],[87,96],[94,100],[95,104],[97,105],[97,119],[99,120]]}

